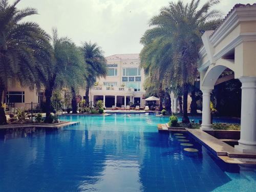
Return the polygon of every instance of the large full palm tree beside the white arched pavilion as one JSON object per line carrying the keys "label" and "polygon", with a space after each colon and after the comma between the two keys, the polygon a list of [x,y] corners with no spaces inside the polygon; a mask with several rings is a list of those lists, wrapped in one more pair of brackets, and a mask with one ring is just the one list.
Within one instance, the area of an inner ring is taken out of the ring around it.
{"label": "large full palm tree beside the white arched pavilion", "polygon": [[[199,8],[200,0],[191,0],[184,4],[170,2],[160,10],[159,15],[150,20],[148,29],[141,38],[144,47],[168,45],[164,52],[169,57],[165,63],[165,76],[171,81],[172,88],[181,87],[183,91],[183,122],[189,122],[187,116],[187,95],[189,84],[194,84],[198,72],[197,61],[202,46],[200,30],[212,30],[222,22],[222,14],[210,8],[219,3],[209,0]],[[157,44],[155,45],[155,42]],[[152,48],[154,49],[154,48]],[[162,49],[160,46],[159,49]],[[161,57],[161,55],[160,55]]]}

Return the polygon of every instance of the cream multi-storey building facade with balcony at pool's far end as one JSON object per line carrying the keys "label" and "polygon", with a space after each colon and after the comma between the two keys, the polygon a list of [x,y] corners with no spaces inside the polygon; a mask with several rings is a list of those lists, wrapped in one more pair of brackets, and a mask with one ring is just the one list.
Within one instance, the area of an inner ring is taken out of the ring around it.
{"label": "cream multi-storey building facade with balcony at pool's far end", "polygon": [[[90,90],[89,101],[103,100],[106,108],[112,106],[144,106],[144,71],[140,69],[139,54],[117,54],[106,57],[108,74],[97,78],[97,86]],[[84,95],[84,92],[81,93]]]}

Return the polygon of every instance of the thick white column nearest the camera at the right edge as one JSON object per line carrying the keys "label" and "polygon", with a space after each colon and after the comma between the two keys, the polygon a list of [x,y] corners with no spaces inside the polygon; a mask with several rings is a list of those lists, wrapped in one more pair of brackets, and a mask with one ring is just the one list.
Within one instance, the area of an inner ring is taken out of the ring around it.
{"label": "thick white column nearest the camera at the right edge", "polygon": [[234,146],[244,153],[256,153],[256,77],[241,77],[241,136]]}

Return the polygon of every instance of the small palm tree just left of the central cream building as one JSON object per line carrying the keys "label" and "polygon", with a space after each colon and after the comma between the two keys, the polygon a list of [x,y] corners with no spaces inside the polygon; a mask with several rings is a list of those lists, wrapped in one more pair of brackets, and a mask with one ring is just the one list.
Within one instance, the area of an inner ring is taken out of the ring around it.
{"label": "small palm tree just left of the central cream building", "polygon": [[89,91],[93,87],[96,77],[105,77],[107,74],[106,60],[103,52],[97,44],[84,42],[82,46],[84,61],[86,61],[86,70],[88,72],[86,83],[86,105],[89,105]]}

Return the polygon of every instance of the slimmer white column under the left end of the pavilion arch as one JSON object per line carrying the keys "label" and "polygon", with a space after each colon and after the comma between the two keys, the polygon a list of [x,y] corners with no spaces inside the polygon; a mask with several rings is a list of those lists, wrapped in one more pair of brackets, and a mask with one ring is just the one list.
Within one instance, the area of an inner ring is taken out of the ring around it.
{"label": "slimmer white column under the left end of the pavilion arch", "polygon": [[211,89],[201,90],[203,92],[202,131],[213,131],[210,122],[210,93]]}

